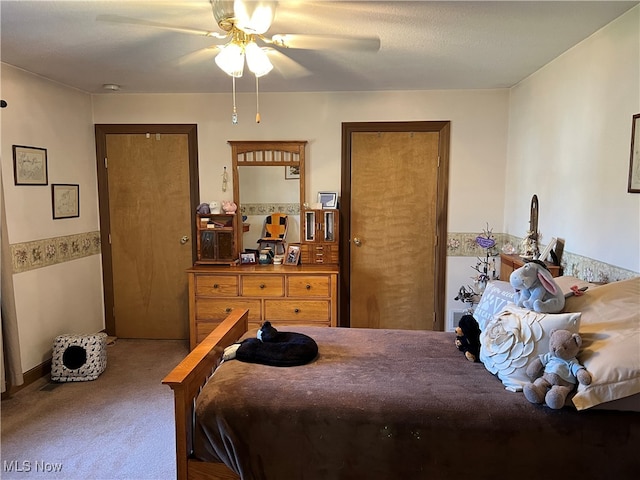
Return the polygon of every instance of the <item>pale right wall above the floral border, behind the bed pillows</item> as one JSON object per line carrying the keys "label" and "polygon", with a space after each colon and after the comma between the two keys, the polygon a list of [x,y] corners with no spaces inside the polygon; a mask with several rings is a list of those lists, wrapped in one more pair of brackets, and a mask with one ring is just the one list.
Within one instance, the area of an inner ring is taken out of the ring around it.
{"label": "pale right wall above the floral border, behind the bed pillows", "polygon": [[640,112],[640,6],[511,90],[505,231],[540,201],[543,243],[640,271],[640,195],[627,193]]}

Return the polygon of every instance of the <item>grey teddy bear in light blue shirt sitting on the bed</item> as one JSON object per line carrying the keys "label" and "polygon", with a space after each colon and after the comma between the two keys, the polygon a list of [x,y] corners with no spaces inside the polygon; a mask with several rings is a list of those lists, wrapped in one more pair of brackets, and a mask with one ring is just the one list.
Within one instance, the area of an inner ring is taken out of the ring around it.
{"label": "grey teddy bear in light blue shirt sitting on the bed", "polygon": [[546,403],[557,410],[564,406],[578,382],[589,385],[591,374],[576,358],[581,345],[582,339],[577,333],[552,330],[549,353],[539,355],[527,366],[527,376],[533,383],[523,387],[526,399],[531,403]]}

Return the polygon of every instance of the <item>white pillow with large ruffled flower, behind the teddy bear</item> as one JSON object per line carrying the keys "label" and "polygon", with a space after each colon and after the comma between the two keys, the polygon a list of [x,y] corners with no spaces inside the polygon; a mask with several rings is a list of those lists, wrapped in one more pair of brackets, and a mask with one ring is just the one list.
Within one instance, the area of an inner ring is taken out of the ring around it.
{"label": "white pillow with large ruffled flower, behind the teddy bear", "polygon": [[522,390],[529,383],[527,365],[549,351],[551,331],[578,333],[580,313],[538,313],[508,305],[480,333],[480,361],[505,388]]}

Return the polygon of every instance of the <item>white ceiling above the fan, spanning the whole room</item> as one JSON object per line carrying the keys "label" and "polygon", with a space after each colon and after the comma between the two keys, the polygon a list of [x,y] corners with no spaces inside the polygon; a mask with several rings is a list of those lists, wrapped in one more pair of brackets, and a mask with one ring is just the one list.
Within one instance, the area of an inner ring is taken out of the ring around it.
{"label": "white ceiling above the fan, spanning the whole room", "polygon": [[[510,87],[638,3],[281,1],[269,36],[377,36],[380,49],[289,49],[272,59],[260,91]],[[208,1],[1,0],[0,58],[90,93],[106,83],[123,93],[230,91],[217,50],[206,48],[220,41],[99,15],[219,30]],[[253,75],[236,88],[253,91]]]}

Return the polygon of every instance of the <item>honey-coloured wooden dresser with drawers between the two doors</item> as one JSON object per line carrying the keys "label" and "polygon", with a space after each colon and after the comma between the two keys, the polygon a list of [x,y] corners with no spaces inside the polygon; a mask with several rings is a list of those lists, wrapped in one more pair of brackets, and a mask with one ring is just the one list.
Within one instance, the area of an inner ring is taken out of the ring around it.
{"label": "honey-coloured wooden dresser with drawers between the two doors", "polygon": [[337,265],[196,265],[187,273],[191,349],[234,308],[249,309],[249,328],[338,323]]}

